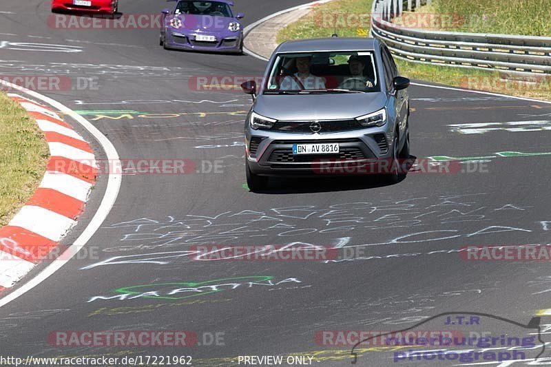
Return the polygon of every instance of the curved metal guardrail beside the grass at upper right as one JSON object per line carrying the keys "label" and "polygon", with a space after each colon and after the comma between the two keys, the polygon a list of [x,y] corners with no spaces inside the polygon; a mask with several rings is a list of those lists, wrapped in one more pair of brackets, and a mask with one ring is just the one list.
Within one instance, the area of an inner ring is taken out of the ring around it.
{"label": "curved metal guardrail beside the grass at upper right", "polygon": [[404,8],[419,8],[421,0],[413,1],[374,0],[371,9],[371,35],[384,41],[399,59],[520,74],[551,74],[551,37],[417,30],[391,23]]}

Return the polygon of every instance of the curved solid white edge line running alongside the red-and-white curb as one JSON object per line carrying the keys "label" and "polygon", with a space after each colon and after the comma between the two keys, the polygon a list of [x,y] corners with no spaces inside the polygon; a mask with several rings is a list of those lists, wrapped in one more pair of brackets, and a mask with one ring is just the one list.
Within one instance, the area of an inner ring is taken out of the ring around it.
{"label": "curved solid white edge line running alongside the red-and-white curb", "polygon": [[[76,120],[77,123],[81,124],[83,128],[85,128],[88,132],[90,132],[90,134],[92,134],[92,136],[94,136],[94,138],[96,138],[96,140],[98,140],[98,143],[101,145],[101,147],[105,151],[105,154],[107,155],[107,159],[110,160],[110,162],[121,165],[121,160],[118,157],[118,153],[110,140],[107,139],[107,137],[103,135],[97,127],[95,127],[88,120],[83,118],[83,116],[77,114],[72,109],[66,107],[58,101],[55,101],[54,99],[47,96],[43,96],[42,94],[39,94],[37,92],[33,92],[32,90],[28,90],[26,88],[20,87],[19,85],[14,85],[12,83],[8,83],[2,80],[0,80],[0,84],[20,90],[21,92],[25,92],[34,98],[48,103],[52,107],[63,112],[63,114],[70,116],[71,118]],[[109,176],[107,177],[107,188],[105,189],[105,194],[103,195],[101,204],[96,210],[96,213],[94,214],[92,220],[90,220],[90,223],[88,223],[87,227],[84,229],[83,233],[79,235],[79,238],[77,238],[73,242],[72,246],[65,250],[65,252],[59,257],[58,260],[52,262],[37,276],[33,277],[31,280],[23,284],[20,288],[6,295],[6,297],[1,298],[0,307],[6,306],[6,304],[12,302],[13,300],[16,300],[18,297],[21,297],[21,295],[24,295],[35,286],[41,284],[41,282],[48,279],[48,277],[50,277],[56,271],[65,266],[65,264],[67,264],[67,262],[69,262],[74,257],[74,255],[79,252],[79,250],[86,246],[87,242],[90,240],[90,238],[92,238],[92,235],[94,235],[94,233],[96,233],[96,231],[98,231],[98,229],[101,227],[101,224],[105,221],[105,218],[107,218],[107,215],[109,215],[113,205],[115,204],[116,198],[118,196],[118,191],[121,189],[122,178],[123,176],[121,176],[121,174],[109,174]]]}

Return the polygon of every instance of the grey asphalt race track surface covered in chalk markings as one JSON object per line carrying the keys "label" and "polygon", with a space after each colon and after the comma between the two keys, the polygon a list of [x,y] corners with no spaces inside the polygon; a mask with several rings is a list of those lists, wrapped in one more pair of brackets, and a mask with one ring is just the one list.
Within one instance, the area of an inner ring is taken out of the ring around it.
{"label": "grey asphalt race track surface covered in chalk markings", "polygon": [[[236,2],[248,24],[302,1]],[[163,5],[121,0],[120,9],[154,14]],[[76,111],[124,110],[84,114],[122,159],[221,160],[223,169],[223,174],[123,176],[114,208],[86,245],[96,256],[71,260],[0,308],[2,355],[191,355],[196,366],[235,366],[239,355],[298,353],[313,355],[313,364],[344,366],[351,363],[350,347],[319,345],[316,331],[393,331],[451,311],[490,313],[526,324],[539,310],[551,307],[548,262],[466,262],[453,251],[470,244],[549,242],[549,156],[496,153],[551,152],[550,131],[544,129],[551,120],[551,105],[412,85],[412,154],[485,156],[484,166],[461,163],[461,169],[476,169],[471,173],[412,172],[391,186],[355,178],[273,180],[267,192],[251,193],[243,187],[242,147],[249,98],[238,92],[196,92],[188,80],[259,75],[264,62],[251,56],[167,52],[158,46],[158,30],[52,29],[48,1],[4,0],[0,11],[14,13],[0,14],[1,41],[81,47],[81,52],[70,53],[0,49],[1,74],[97,77],[98,90],[45,94]],[[139,117],[144,114],[166,115]],[[123,117],[114,118],[118,116]],[[461,134],[448,126],[507,122],[521,123],[491,125],[494,129],[479,134]],[[504,129],[511,127],[517,131]],[[85,216],[65,245],[85,227],[103,190],[105,176],[99,178]],[[173,252],[196,243],[292,242],[344,245],[362,249],[364,258],[207,262]],[[112,260],[115,256],[127,258]],[[143,261],[152,257],[164,258],[157,259],[163,264]],[[265,285],[267,276],[273,277],[273,286]],[[241,279],[226,280],[235,277]],[[140,292],[167,294],[210,280],[241,285],[187,299],[90,302],[96,296],[120,294],[114,289],[123,287],[149,284]],[[179,284],[152,285],[165,283]],[[548,319],[543,317],[541,323]],[[500,327],[500,333],[512,333],[509,324]],[[128,330],[218,332],[224,333],[225,345],[121,349],[48,344],[54,331]],[[386,353],[367,352],[360,365],[394,364]]]}

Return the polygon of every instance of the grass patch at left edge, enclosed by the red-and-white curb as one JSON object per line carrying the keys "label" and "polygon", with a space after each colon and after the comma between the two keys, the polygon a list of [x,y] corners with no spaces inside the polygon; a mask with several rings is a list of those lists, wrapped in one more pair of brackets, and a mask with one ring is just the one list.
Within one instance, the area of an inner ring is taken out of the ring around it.
{"label": "grass patch at left edge, enclosed by the red-and-white curb", "polygon": [[37,189],[48,156],[37,124],[0,92],[0,227],[8,224]]}

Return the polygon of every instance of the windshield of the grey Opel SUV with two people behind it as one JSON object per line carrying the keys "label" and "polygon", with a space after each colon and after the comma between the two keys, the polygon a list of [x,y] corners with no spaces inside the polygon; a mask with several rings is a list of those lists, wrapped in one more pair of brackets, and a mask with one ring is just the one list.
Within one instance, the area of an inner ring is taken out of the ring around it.
{"label": "windshield of the grey Opel SUV with two people behind it", "polygon": [[264,94],[380,92],[372,51],[278,54]]}

